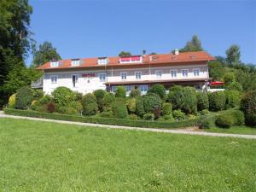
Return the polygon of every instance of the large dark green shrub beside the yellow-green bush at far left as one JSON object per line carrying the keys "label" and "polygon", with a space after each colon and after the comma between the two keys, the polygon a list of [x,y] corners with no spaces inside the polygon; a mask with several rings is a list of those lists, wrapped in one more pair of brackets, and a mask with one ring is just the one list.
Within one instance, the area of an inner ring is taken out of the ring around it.
{"label": "large dark green shrub beside the yellow-green bush at far left", "polygon": [[16,108],[27,109],[33,100],[33,90],[29,87],[21,87],[16,95]]}

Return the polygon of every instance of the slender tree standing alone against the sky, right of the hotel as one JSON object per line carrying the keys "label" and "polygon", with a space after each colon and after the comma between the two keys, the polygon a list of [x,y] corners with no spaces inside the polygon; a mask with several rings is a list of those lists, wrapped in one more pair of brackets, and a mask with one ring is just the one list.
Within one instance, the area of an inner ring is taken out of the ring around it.
{"label": "slender tree standing alone against the sky, right of the hotel", "polygon": [[226,50],[226,61],[230,67],[237,66],[240,61],[240,47],[236,44],[230,46],[229,49]]}

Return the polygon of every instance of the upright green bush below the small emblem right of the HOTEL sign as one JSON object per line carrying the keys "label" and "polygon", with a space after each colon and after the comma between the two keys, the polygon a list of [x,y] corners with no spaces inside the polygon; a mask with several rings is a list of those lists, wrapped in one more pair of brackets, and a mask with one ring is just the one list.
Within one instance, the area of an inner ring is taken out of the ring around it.
{"label": "upright green bush below the small emblem right of the HOTEL sign", "polygon": [[82,106],[84,115],[95,115],[98,110],[96,96],[92,93],[84,95],[82,98]]}

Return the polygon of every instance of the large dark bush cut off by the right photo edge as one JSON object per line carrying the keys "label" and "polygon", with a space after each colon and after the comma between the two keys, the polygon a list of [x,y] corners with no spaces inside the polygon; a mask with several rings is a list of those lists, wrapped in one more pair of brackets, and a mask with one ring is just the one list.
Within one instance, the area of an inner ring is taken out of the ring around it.
{"label": "large dark bush cut off by the right photo edge", "polygon": [[248,91],[241,99],[241,111],[247,125],[256,126],[256,90]]}

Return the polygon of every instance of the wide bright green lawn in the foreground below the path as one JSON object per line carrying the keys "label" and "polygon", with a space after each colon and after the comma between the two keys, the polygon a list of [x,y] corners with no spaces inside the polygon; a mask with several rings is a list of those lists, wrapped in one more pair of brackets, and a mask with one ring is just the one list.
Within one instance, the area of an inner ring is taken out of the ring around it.
{"label": "wide bright green lawn in the foreground below the path", "polygon": [[256,140],[0,119],[0,191],[255,191]]}

